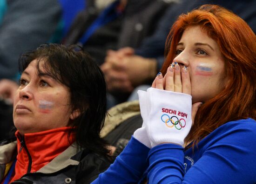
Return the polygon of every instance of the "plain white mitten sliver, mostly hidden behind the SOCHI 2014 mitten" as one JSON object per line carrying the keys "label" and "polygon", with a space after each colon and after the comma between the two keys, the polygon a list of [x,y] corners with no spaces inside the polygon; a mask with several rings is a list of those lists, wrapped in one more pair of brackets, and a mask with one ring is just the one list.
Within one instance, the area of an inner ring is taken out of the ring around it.
{"label": "plain white mitten sliver, mostly hidden behind the SOCHI 2014 mitten", "polygon": [[141,128],[138,128],[134,132],[133,136],[136,140],[140,141],[143,145],[150,148],[151,146],[150,146],[148,134],[146,132],[146,127],[145,127],[145,121],[148,118],[146,91],[138,90],[138,95],[139,95],[139,102],[140,102],[140,109],[141,109],[141,117],[143,119],[143,122],[142,122]]}

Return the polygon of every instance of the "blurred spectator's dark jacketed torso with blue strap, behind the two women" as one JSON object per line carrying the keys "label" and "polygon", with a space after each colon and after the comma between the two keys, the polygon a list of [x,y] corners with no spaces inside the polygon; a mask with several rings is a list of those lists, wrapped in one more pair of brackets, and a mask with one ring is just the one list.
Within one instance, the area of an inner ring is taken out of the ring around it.
{"label": "blurred spectator's dark jacketed torso with blue strap, behind the two women", "polygon": [[[103,1],[104,2],[104,1]],[[97,63],[106,51],[124,46],[137,48],[153,34],[158,20],[170,4],[164,0],[87,0],[87,7],[71,26],[66,45],[80,44]]]}

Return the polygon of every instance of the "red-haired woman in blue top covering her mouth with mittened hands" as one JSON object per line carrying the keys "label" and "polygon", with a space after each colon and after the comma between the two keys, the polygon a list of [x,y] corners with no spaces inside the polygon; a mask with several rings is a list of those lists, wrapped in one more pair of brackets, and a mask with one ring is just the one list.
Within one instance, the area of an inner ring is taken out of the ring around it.
{"label": "red-haired woman in blue top covering her mouth with mittened hands", "polygon": [[204,5],[169,38],[162,73],[138,92],[142,127],[93,184],[256,184],[255,33]]}

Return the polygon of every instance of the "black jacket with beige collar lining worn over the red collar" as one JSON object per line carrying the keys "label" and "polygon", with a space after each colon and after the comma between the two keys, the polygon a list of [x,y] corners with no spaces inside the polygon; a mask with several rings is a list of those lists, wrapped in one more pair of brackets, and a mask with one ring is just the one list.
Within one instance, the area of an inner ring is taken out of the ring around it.
{"label": "black jacket with beige collar lining worn over the red collar", "polygon": [[[6,164],[17,155],[17,142],[0,146],[0,182]],[[109,158],[69,146],[39,171],[27,173],[12,184],[90,184],[111,164]]]}

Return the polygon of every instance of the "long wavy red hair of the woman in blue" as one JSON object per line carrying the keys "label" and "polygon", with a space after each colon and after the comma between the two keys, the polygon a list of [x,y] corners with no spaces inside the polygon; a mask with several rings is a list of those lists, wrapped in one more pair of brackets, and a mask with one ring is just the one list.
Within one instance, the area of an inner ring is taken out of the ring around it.
{"label": "long wavy red hair of the woman in blue", "polygon": [[256,35],[243,19],[223,7],[203,5],[179,16],[166,41],[167,56],[162,73],[165,74],[173,62],[184,30],[195,25],[219,45],[229,83],[198,110],[186,138],[194,141],[193,146],[228,121],[256,119]]}

